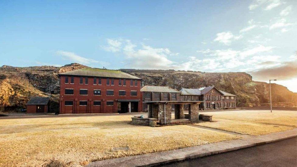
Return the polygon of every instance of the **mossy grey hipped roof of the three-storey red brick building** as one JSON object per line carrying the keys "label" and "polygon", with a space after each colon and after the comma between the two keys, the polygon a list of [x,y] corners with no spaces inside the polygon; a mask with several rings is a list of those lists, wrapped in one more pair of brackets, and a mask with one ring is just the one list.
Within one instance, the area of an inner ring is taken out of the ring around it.
{"label": "mossy grey hipped roof of the three-storey red brick building", "polygon": [[59,74],[59,76],[60,75],[141,79],[119,70],[108,70],[108,69],[101,69],[101,68],[81,68],[78,70],[64,72]]}

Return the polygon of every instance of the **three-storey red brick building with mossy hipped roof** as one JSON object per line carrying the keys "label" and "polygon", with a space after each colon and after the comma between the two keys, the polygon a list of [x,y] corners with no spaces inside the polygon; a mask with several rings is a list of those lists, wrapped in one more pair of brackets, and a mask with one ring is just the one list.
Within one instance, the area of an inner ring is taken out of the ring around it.
{"label": "three-storey red brick building with mossy hipped roof", "polygon": [[59,76],[60,114],[141,111],[141,78],[99,68],[82,68]]}

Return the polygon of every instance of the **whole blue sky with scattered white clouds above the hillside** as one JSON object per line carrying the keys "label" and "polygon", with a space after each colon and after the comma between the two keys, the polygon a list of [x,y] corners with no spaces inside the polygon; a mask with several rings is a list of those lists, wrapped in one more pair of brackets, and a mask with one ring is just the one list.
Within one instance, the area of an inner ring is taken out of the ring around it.
{"label": "whole blue sky with scattered white clouds above the hillside", "polygon": [[243,71],[297,91],[296,1],[1,1],[0,65]]}

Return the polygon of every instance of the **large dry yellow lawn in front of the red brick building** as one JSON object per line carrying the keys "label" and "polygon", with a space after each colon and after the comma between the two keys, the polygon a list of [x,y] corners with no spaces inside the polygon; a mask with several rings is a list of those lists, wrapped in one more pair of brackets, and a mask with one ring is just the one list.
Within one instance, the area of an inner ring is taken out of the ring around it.
{"label": "large dry yellow lawn in front of the red brick building", "polygon": [[[187,125],[134,126],[130,120],[127,115],[1,120],[0,166],[79,166],[238,138]],[[130,150],[112,151],[125,146]]]}

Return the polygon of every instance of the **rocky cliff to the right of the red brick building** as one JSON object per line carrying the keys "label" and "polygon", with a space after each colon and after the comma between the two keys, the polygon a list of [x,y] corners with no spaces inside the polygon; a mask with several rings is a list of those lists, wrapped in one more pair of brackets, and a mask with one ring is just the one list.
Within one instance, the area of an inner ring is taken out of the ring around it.
{"label": "rocky cliff to the right of the red brick building", "polygon": [[[269,84],[256,82],[244,72],[206,73],[174,70],[133,70],[121,71],[143,78],[144,85],[170,86],[175,89],[200,88],[214,85],[218,89],[236,95],[237,106],[267,106]],[[274,106],[296,106],[296,93],[286,87],[271,84]]]}

